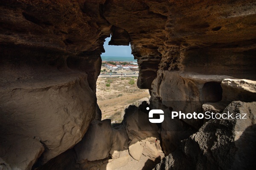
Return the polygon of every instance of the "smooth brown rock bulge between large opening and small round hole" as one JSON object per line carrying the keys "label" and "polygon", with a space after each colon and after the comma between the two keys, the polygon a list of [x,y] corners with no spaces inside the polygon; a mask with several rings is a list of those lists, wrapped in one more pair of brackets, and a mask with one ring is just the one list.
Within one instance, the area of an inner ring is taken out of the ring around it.
{"label": "smooth brown rock bulge between large opening and small round hole", "polygon": [[[154,89],[152,92],[160,97],[163,105],[172,108],[172,111],[183,113],[201,111],[203,103],[200,101],[198,85],[194,81],[180,77],[179,72],[159,71],[158,74],[160,73],[161,77],[152,83]],[[197,129],[202,125],[200,119],[183,119],[183,121]]]}

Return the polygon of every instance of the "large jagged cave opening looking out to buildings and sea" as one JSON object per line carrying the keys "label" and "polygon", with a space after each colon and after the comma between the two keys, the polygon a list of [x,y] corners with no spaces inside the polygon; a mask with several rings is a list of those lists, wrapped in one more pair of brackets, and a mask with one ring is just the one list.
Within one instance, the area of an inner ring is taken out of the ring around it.
{"label": "large jagged cave opening looking out to buildings and sea", "polygon": [[131,45],[108,45],[101,55],[101,73],[96,82],[97,103],[103,119],[111,119],[111,124],[121,123],[125,108],[139,105],[139,101],[149,100],[147,89],[137,87],[138,63],[131,54]]}

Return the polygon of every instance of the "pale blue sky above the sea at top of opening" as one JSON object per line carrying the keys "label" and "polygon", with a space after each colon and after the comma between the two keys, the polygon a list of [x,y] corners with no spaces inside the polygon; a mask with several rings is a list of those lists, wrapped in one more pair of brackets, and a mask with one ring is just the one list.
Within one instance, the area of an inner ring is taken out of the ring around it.
{"label": "pale blue sky above the sea at top of opening", "polygon": [[131,45],[108,45],[111,37],[106,38],[104,42],[105,53],[102,53],[102,56],[111,56],[111,57],[134,57],[131,54]]}

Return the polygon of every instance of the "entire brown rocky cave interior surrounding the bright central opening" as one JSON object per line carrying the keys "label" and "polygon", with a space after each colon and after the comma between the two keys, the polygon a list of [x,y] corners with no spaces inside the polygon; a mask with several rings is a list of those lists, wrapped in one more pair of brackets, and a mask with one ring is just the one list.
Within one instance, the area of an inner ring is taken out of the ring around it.
{"label": "entire brown rocky cave interior surrounding the bright central opening", "polygon": [[[122,170],[145,157],[149,163],[138,170],[253,169],[254,6],[255,0],[0,2],[0,169]],[[102,120],[96,96],[110,35],[111,45],[131,44],[137,87],[150,94],[149,104],[127,106],[114,127]],[[145,106],[163,110],[164,121],[148,124],[147,111],[138,112]],[[168,116],[203,107],[247,119]]]}

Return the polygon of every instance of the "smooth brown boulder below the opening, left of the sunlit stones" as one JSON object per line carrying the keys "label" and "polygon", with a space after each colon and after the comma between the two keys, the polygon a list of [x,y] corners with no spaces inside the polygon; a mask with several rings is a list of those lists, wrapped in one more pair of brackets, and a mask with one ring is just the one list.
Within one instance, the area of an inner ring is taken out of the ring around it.
{"label": "smooth brown boulder below the opening, left of the sunlit stones", "polygon": [[77,162],[82,163],[85,160],[95,161],[107,158],[112,142],[111,120],[94,120],[81,142],[75,146]]}

